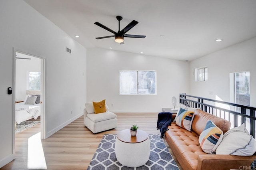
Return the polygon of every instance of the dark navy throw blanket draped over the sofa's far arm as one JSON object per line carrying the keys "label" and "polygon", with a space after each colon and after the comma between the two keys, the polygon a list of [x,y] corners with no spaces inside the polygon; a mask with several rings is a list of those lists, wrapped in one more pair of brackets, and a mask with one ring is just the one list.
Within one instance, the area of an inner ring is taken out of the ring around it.
{"label": "dark navy throw blanket draped over the sofa's far arm", "polygon": [[161,138],[164,138],[164,133],[169,130],[167,127],[172,123],[172,113],[170,112],[160,112],[158,113],[157,119],[157,129],[160,129]]}

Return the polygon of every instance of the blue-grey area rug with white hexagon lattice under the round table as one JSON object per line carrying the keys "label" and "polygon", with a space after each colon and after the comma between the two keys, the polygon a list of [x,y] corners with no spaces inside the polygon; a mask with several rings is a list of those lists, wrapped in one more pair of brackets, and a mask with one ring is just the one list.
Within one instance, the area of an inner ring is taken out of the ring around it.
{"label": "blue-grey area rug with white hexagon lattice under the round table", "polygon": [[[116,159],[116,134],[104,134],[87,170],[179,170],[159,134],[148,134],[150,156],[146,164],[130,168]],[[129,158],[127,158],[129,159]]]}

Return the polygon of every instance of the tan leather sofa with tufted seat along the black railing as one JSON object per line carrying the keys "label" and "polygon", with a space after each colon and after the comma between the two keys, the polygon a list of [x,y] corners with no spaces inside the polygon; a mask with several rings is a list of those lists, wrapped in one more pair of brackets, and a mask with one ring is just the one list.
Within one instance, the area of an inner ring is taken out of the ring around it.
{"label": "tan leather sofa with tufted seat along the black railing", "polygon": [[[191,132],[174,122],[165,132],[165,140],[184,170],[250,169],[250,164],[256,156],[206,154],[201,149],[198,138],[207,121],[211,120],[223,133],[230,129],[231,123],[202,110],[196,110],[194,114]],[[175,116],[173,115],[173,119]]]}

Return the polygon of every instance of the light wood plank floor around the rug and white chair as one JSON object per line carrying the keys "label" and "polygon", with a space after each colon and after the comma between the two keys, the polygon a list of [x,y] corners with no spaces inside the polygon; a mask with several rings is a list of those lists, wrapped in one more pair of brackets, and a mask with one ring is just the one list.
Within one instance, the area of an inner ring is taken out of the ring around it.
{"label": "light wood plank floor around the rug and white chair", "polygon": [[[160,134],[160,131],[156,129],[158,113],[116,113],[116,115],[118,127],[115,129],[93,134],[84,126],[82,116],[49,138],[41,140],[47,169],[87,169],[102,136],[104,134],[117,134],[121,130],[130,128],[132,124],[137,124],[139,129],[146,131],[148,134]],[[40,132],[40,125],[16,134],[16,159],[1,169],[28,169],[28,138],[38,132]],[[178,164],[167,143],[166,146]],[[180,164],[178,166],[182,170]]]}

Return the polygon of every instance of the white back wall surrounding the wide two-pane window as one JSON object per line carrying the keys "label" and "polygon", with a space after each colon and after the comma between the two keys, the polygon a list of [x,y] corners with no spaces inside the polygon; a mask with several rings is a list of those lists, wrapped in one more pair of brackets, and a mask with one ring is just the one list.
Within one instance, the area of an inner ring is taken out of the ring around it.
{"label": "white back wall surrounding the wide two-pane window", "polygon": [[[119,95],[120,70],[156,70],[157,95]],[[87,49],[87,101],[106,99],[113,112],[160,112],[188,93],[189,63],[108,49]],[[113,106],[112,106],[113,104]]]}

